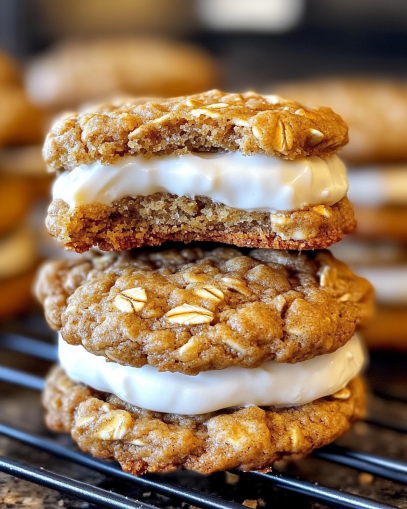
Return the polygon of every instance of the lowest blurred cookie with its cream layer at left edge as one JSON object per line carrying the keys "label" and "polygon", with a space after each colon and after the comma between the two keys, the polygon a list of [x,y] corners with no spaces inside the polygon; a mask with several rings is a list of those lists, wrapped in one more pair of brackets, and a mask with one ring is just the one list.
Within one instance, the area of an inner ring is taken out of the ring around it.
{"label": "lowest blurred cookie with its cream layer at left edge", "polygon": [[0,319],[25,311],[38,266],[34,235],[21,225],[0,238]]}

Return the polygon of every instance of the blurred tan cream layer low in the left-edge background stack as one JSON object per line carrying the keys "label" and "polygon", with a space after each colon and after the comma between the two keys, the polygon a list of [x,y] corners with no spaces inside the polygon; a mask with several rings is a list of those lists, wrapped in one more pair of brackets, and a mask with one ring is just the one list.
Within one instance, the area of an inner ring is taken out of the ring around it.
{"label": "blurred tan cream layer low in the left-edge background stack", "polygon": [[36,259],[35,240],[24,225],[0,241],[0,279],[18,276],[30,269]]}

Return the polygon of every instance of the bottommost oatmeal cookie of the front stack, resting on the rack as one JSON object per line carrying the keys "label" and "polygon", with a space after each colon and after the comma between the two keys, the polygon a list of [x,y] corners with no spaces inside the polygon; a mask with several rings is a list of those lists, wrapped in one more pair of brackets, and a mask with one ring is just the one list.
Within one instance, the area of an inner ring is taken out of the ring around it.
{"label": "bottommost oatmeal cookie of the front stack, resting on the rack", "polygon": [[139,408],[70,380],[54,368],[43,397],[47,425],[71,433],[83,451],[116,459],[134,475],[179,467],[210,474],[264,470],[279,459],[309,454],[363,418],[360,378],[333,396],[293,408],[250,406],[177,415]]}

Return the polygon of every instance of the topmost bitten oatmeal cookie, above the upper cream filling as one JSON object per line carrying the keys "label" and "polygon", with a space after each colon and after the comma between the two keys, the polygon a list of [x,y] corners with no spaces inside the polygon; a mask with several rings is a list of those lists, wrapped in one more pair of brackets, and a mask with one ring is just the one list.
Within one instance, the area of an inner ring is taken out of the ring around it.
{"label": "topmost bitten oatmeal cookie, above the upper cream filling", "polygon": [[126,155],[239,150],[295,159],[327,157],[348,142],[348,128],[330,108],[308,109],[277,96],[211,90],[56,122],[44,145],[54,169],[72,170]]}

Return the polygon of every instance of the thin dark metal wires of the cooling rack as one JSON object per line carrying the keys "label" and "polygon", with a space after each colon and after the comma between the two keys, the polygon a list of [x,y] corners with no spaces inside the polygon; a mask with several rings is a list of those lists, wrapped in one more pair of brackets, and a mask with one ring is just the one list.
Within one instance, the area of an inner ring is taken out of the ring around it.
{"label": "thin dark metal wires of the cooling rack", "polygon": [[[57,360],[57,348],[53,344],[14,332],[0,333],[0,348],[33,356],[45,361],[54,362]],[[2,365],[0,365],[0,381],[35,391],[41,391],[44,387],[44,379],[42,377]],[[395,431],[404,432],[407,430],[407,426],[392,422],[389,419],[383,419],[380,416],[370,418],[367,423],[380,427],[388,427]],[[202,507],[204,509],[237,509],[238,507],[242,507],[241,503],[226,500],[220,496],[198,490],[195,487],[176,484],[167,479],[163,480],[162,476],[147,474],[141,477],[135,477],[123,472],[115,462],[94,458],[86,453],[78,451],[73,444],[71,446],[65,446],[56,439],[39,436],[14,426],[9,426],[5,423],[0,423],[0,435],[45,451],[53,456],[77,465],[90,468],[95,472],[103,473],[114,479],[119,479],[133,485],[137,484],[143,486],[158,494],[178,499],[183,503],[193,506]],[[313,456],[320,460],[351,467],[365,473],[407,485],[407,463],[403,461],[389,459],[376,454],[354,451],[338,445],[330,445],[319,449],[314,452]],[[139,509],[155,507],[145,502],[129,499],[119,493],[98,488],[89,483],[84,483],[71,477],[62,476],[5,457],[0,457],[0,471],[57,490],[60,493],[77,497],[89,503],[96,504],[98,507]],[[360,495],[343,492],[305,479],[300,479],[275,469],[269,473],[234,473],[251,482],[261,482],[265,485],[266,489],[267,486],[277,486],[283,490],[299,493],[306,497],[310,497],[314,501],[332,507],[352,509],[389,509],[391,507],[396,507]]]}

